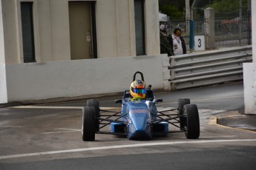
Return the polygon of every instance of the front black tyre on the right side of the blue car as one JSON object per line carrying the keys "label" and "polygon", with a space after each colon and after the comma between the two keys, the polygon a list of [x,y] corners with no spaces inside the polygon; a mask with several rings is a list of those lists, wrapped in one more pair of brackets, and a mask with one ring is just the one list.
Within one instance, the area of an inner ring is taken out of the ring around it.
{"label": "front black tyre on the right side of the blue car", "polygon": [[200,136],[200,120],[197,105],[187,104],[184,106],[184,115],[186,117],[186,137],[188,139],[197,139]]}

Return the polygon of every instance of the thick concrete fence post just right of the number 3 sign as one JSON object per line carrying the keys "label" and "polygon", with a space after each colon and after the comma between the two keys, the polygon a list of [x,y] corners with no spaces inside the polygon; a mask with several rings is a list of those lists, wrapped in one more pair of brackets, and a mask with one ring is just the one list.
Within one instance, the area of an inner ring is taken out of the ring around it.
{"label": "thick concrete fence post just right of the number 3 sign", "polygon": [[208,7],[204,10],[206,27],[206,49],[213,50],[215,44],[214,9]]}

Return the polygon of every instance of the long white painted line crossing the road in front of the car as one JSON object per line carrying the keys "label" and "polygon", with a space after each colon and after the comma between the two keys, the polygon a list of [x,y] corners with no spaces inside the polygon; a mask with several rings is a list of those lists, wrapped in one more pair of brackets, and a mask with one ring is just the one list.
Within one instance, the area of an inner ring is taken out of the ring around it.
{"label": "long white painted line crossing the road in front of the car", "polygon": [[36,153],[27,153],[27,154],[12,154],[6,156],[0,156],[0,160],[16,158],[16,157],[31,157],[31,156],[40,156],[46,154],[61,154],[61,153],[71,153],[71,152],[86,152],[86,151],[96,151],[96,150],[105,150],[105,149],[122,149],[122,148],[135,148],[143,146],[164,146],[164,145],[177,145],[177,144],[197,144],[197,143],[233,143],[233,142],[254,142],[256,139],[235,139],[235,140],[184,140],[177,142],[163,142],[163,143],[139,143],[131,145],[118,145],[118,146],[99,146],[91,148],[82,148],[82,149],[69,149],[69,150],[60,150],[60,151],[50,151],[50,152],[36,152]]}

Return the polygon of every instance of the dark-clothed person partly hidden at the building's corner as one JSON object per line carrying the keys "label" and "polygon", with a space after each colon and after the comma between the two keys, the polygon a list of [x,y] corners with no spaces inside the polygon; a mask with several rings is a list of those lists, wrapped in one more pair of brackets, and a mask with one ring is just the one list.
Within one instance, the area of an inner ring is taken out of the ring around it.
{"label": "dark-clothed person partly hidden at the building's corner", "polygon": [[164,24],[160,25],[160,53],[161,54],[168,54],[171,56],[171,45],[168,41],[168,37],[166,35],[166,27]]}

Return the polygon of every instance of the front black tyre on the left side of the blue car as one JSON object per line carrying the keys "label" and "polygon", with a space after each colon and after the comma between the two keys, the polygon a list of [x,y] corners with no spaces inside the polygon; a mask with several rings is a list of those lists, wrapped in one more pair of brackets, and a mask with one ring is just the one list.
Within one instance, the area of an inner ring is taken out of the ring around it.
{"label": "front black tyre on the left side of the blue car", "polygon": [[95,112],[93,107],[82,108],[82,140],[95,140]]}

